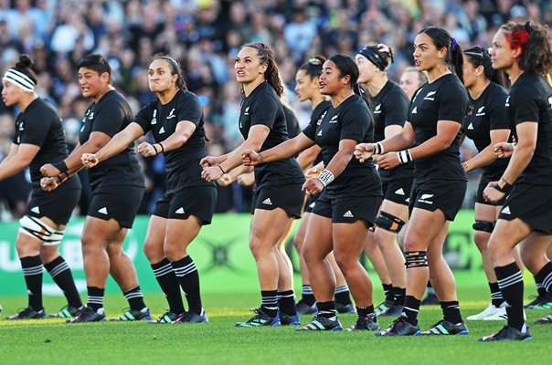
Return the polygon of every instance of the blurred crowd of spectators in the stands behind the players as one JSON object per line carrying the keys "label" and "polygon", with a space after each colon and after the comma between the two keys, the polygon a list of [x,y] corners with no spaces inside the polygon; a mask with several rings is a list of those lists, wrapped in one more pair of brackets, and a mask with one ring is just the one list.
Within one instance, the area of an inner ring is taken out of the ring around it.
{"label": "blurred crowd of spectators in the stands behind the players", "polygon": [[[233,66],[244,43],[264,42],[275,49],[286,96],[304,126],[311,109],[296,100],[293,88],[297,67],[309,57],[354,56],[369,42],[386,43],[396,55],[389,76],[398,81],[412,62],[411,44],[423,26],[444,26],[462,47],[485,47],[498,26],[526,19],[551,25],[552,0],[0,0],[0,73],[21,53],[34,59],[37,93],[58,106],[72,147],[90,105],[80,96],[77,80],[82,57],[107,57],[114,85],[137,111],[154,99],[147,86],[151,57],[168,54],[180,61],[188,89],[201,100],[208,153],[218,155],[242,141]],[[0,100],[0,161],[18,112]],[[473,153],[470,143],[462,148],[463,158]],[[163,158],[144,159],[143,168],[147,193],[140,213],[148,214],[164,190]],[[478,173],[470,177],[465,207],[473,204]],[[86,181],[86,172],[81,179]],[[0,220],[22,214],[30,188],[27,172],[0,182]],[[78,214],[86,214],[87,193]],[[237,183],[219,188],[218,212],[249,211],[250,193]]]}

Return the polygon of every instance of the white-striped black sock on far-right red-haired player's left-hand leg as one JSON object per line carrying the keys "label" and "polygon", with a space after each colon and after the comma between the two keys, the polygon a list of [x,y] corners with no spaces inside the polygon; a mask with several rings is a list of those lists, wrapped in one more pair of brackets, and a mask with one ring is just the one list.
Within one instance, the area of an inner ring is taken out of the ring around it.
{"label": "white-striped black sock on far-right red-haired player's left-hand leg", "polygon": [[522,330],[524,319],[524,276],[515,262],[494,267],[498,286],[507,302],[508,326]]}

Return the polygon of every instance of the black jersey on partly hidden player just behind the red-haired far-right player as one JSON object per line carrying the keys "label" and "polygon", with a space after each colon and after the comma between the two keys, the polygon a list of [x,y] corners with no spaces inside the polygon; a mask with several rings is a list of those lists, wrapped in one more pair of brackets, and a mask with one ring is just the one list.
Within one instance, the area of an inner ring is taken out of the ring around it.
{"label": "black jersey on partly hidden player just behind the red-haired far-right player", "polygon": [[[477,99],[470,98],[470,112],[464,121],[464,133],[475,144],[477,151],[483,151],[491,144],[491,130],[510,130],[510,123],[504,114],[504,101],[508,92],[500,85],[491,82]],[[493,180],[498,180],[509,159],[496,159],[483,166],[483,174]]]}

